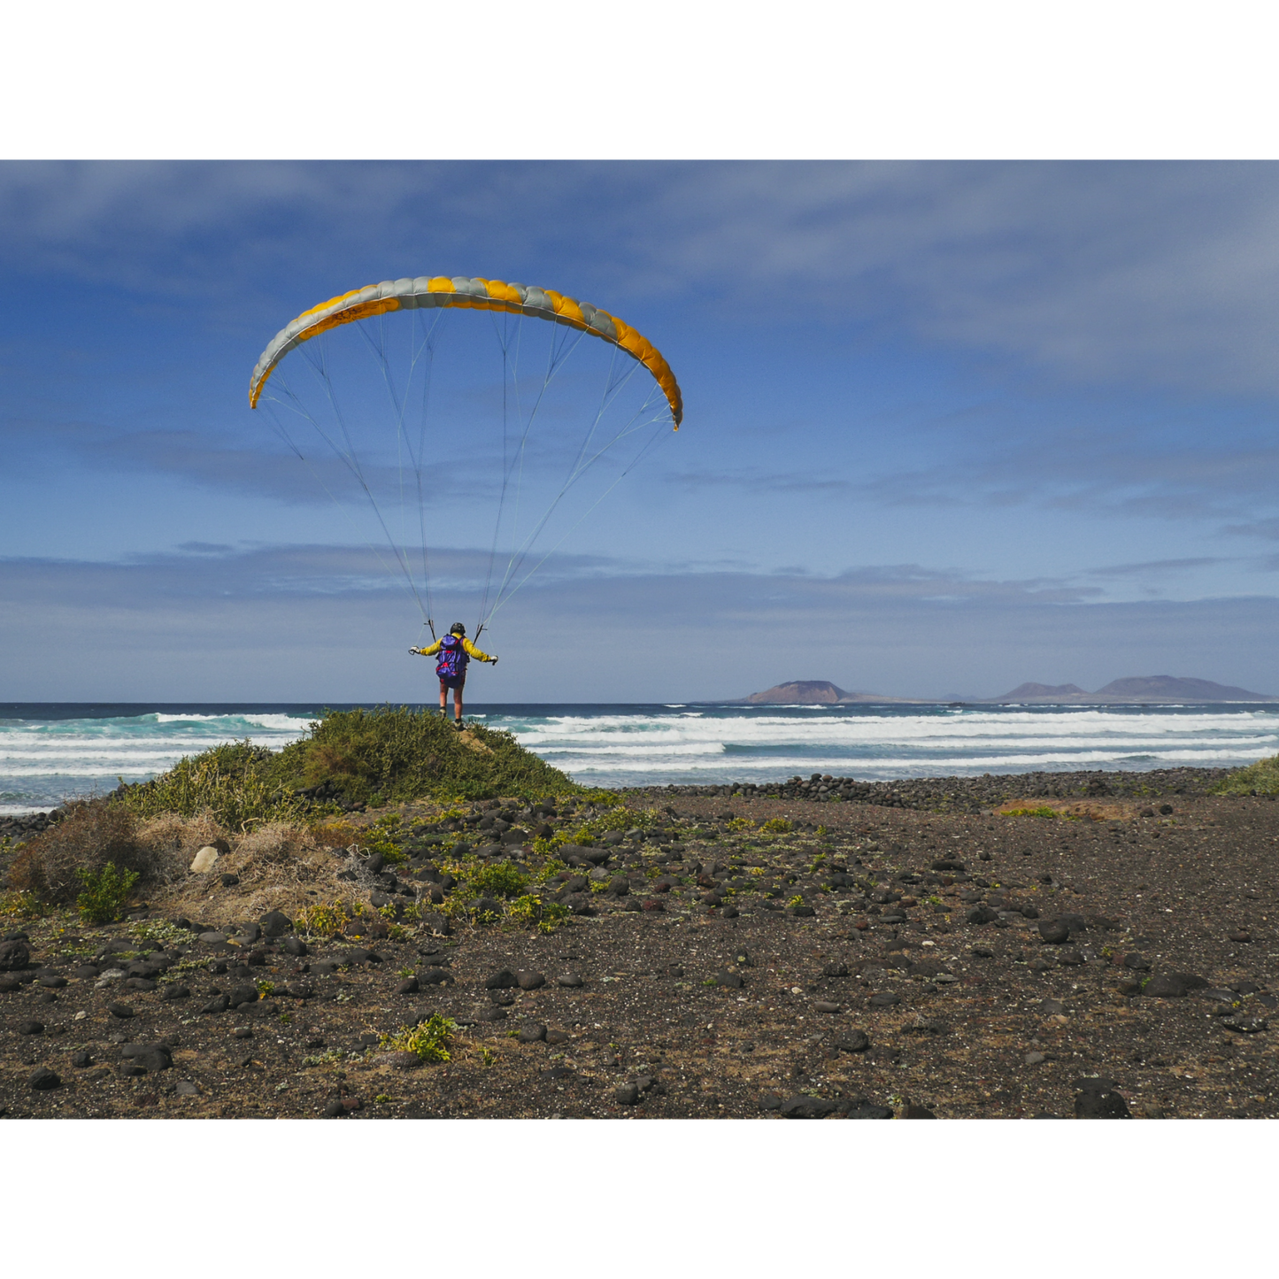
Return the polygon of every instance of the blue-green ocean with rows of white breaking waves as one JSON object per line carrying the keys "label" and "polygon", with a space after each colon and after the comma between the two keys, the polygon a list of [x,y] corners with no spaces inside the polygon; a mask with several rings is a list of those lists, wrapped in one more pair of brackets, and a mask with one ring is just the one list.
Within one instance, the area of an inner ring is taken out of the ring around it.
{"label": "blue-green ocean with rows of white breaking waves", "polygon": [[[345,710],[349,703],[333,703]],[[145,781],[182,756],[295,741],[324,703],[0,703],[0,813]],[[600,787],[1233,767],[1279,753],[1279,703],[1216,706],[468,706]],[[469,718],[468,714],[468,718]]]}

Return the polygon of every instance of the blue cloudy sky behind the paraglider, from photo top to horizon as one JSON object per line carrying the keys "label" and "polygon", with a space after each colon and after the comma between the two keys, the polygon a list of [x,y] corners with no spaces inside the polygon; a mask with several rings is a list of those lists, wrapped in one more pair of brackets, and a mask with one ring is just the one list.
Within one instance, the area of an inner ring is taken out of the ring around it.
{"label": "blue cloudy sky behind the paraglider, from photo top to horizon", "polygon": [[[1264,160],[0,161],[0,700],[428,696],[367,509],[247,407],[294,315],[420,274],[591,301],[686,399],[560,508],[476,700],[1279,692],[1276,270]],[[435,615],[473,629],[501,375],[450,322]]]}

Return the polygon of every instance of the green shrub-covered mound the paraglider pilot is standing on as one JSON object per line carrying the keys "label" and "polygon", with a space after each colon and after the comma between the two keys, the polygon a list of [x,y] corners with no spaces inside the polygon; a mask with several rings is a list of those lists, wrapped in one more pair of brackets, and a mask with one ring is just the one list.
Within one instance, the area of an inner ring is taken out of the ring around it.
{"label": "green shrub-covered mound the paraglider pilot is standing on", "polygon": [[545,798],[581,789],[500,729],[469,724],[459,733],[437,714],[384,706],[330,711],[279,752],[237,742],[184,757],[128,788],[120,802],[147,817],[207,811],[244,830],[336,812],[344,803]]}

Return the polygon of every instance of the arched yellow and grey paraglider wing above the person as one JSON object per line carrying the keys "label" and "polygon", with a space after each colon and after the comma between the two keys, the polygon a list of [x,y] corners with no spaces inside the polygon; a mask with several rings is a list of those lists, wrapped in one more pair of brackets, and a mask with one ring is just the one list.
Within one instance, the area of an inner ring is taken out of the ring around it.
{"label": "arched yellow and grey paraglider wing above the person", "polygon": [[292,324],[285,325],[267,344],[249,379],[248,403],[257,408],[258,396],[275,366],[295,347],[339,325],[388,311],[412,311],[428,307],[466,307],[477,311],[509,311],[513,315],[532,316],[569,325],[611,343],[633,359],[640,361],[652,373],[670,404],[675,430],[684,417],[684,402],[679,384],[661,352],[643,334],[637,333],[616,316],[592,307],[590,302],[567,298],[554,289],[537,289],[524,284],[506,284],[503,280],[485,280],[480,276],[420,275],[416,279],[384,280],[362,289],[343,293],[320,306],[303,311]]}

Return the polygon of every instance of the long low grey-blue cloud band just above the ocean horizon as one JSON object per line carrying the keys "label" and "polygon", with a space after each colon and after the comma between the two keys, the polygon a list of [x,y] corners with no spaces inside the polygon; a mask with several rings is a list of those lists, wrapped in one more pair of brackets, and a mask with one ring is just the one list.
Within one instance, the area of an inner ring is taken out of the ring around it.
{"label": "long low grey-blue cloud band just above the ocean horizon", "polygon": [[[483,561],[441,554],[440,572],[460,583],[441,592],[448,622],[473,599]],[[1229,637],[1274,634],[1274,599],[1090,602],[1048,581],[917,565],[836,577],[620,568],[565,561],[518,595],[494,624],[503,663],[477,679],[477,700],[735,697],[790,678],[998,693],[1030,675],[1096,688],[1174,668],[1273,684],[1267,655]],[[3,560],[0,697],[420,700],[428,671],[404,654],[420,627],[405,592],[359,547]]]}

